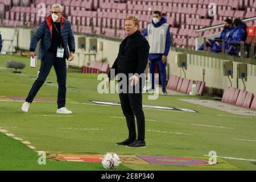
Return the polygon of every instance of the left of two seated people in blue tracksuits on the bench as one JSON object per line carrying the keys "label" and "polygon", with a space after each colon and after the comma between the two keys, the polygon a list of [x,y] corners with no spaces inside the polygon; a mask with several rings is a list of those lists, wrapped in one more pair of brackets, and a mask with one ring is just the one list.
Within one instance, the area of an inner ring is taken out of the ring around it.
{"label": "left of two seated people in blue tracksuits on the bench", "polygon": [[[224,20],[224,28],[223,30],[221,31],[221,35],[214,38],[214,40],[212,39],[207,39],[206,41],[206,46],[207,48],[210,47],[211,49],[211,52],[221,52],[221,47],[220,47],[220,43],[221,43],[221,40],[222,39],[225,39],[226,38],[226,34],[232,30],[232,20],[227,18]],[[215,47],[215,48],[214,48]],[[220,49],[219,49],[220,48]],[[228,45],[226,45],[226,49],[228,48]],[[204,44],[202,44],[199,49],[197,49],[198,51],[204,51]]]}

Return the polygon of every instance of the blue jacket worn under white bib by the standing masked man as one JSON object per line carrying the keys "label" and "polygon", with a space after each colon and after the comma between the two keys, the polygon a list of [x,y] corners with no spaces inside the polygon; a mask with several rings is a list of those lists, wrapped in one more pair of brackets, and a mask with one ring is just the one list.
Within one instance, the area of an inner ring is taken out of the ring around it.
{"label": "blue jacket worn under white bib by the standing masked man", "polygon": [[[158,27],[162,26],[162,24],[164,24],[164,23],[167,23],[167,19],[166,19],[165,16],[162,16],[160,21],[158,23],[156,23],[156,24],[152,21],[152,24],[153,24],[153,26],[155,28],[158,28]],[[147,28],[144,30],[143,36],[147,36]],[[164,50],[164,54],[163,55],[168,56],[170,48],[171,48],[171,33],[170,33],[170,27],[168,27],[167,34],[166,34],[166,49]],[[162,57],[162,54],[150,54],[150,56]]]}

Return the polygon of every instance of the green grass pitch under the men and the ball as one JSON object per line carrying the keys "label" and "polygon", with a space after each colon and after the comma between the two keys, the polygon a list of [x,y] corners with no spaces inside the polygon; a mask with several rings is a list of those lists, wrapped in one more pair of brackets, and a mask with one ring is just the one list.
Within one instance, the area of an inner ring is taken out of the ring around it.
{"label": "green grass pitch under the men and the ball", "polygon": [[[4,69],[5,61],[18,60],[26,63],[21,74]],[[26,97],[34,82],[37,68],[29,67],[29,59],[20,56],[0,57],[0,96]],[[148,100],[143,94],[143,104],[181,107],[199,111],[167,111],[144,109],[146,119],[146,148],[115,146],[127,138],[125,119],[121,107],[93,105],[90,100],[119,102],[118,94],[99,94],[97,75],[76,73],[70,68],[67,77],[67,108],[73,111],[64,117],[56,114],[56,102],[34,102],[28,113],[20,109],[22,102],[0,101],[0,127],[16,137],[28,140],[36,151],[56,151],[64,154],[95,153],[131,155],[184,156],[207,159],[209,151],[217,156],[256,160],[255,117],[220,117],[226,113],[209,107],[180,101],[189,96],[159,96]],[[52,84],[44,84],[36,97],[57,98],[57,82],[52,69],[47,78]],[[47,115],[47,116],[45,116]],[[63,116],[63,115],[61,115]],[[226,128],[191,125],[223,126]],[[65,129],[72,128],[72,129]],[[100,130],[78,130],[100,129]],[[167,131],[155,133],[147,130]],[[180,135],[184,133],[191,135]],[[237,140],[247,139],[247,140]],[[251,140],[251,141],[248,141]],[[104,170],[101,163],[57,162],[47,159],[40,166],[38,155],[25,144],[0,134],[0,170]],[[164,166],[151,164],[121,164],[116,170],[255,170],[256,166],[247,160],[217,158],[216,166]]]}

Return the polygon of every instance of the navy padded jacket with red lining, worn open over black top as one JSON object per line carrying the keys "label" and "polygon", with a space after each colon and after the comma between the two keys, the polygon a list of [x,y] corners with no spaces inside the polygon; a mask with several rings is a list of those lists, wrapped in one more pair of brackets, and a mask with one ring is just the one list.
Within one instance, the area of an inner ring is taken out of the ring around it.
{"label": "navy padded jacket with red lining, worn open over black top", "polygon": [[[75,52],[75,38],[73,36],[71,23],[64,17],[61,17],[61,35],[63,38],[65,56],[68,58],[68,47],[69,51]],[[36,30],[31,39],[30,51],[35,51],[36,44],[40,39],[39,57],[40,59],[44,59],[52,41],[52,16],[48,16],[47,19],[40,24],[38,30]]]}

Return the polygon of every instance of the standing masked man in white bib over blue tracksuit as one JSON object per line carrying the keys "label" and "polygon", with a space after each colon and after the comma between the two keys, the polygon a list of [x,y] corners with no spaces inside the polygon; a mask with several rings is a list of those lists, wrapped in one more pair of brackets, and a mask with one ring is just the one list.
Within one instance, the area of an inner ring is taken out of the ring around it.
{"label": "standing masked man in white bib over blue tracksuit", "polygon": [[148,24],[143,35],[147,38],[148,43],[150,44],[148,62],[150,66],[151,88],[148,89],[148,92],[155,90],[154,73],[157,63],[160,80],[162,82],[162,92],[166,94],[166,61],[171,47],[171,34],[167,19],[162,16],[160,11],[154,11],[153,20]]}

